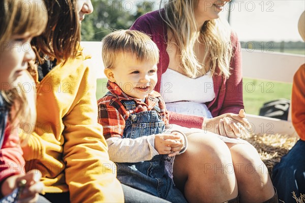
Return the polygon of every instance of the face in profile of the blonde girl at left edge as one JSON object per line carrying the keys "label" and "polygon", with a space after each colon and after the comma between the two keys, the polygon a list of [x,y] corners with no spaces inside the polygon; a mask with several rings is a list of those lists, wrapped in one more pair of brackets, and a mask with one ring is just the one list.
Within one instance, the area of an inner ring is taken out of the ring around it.
{"label": "face in profile of the blonde girl at left edge", "polygon": [[28,33],[14,35],[3,42],[0,50],[0,89],[11,89],[12,82],[24,74],[27,62],[35,59],[31,46],[33,36]]}

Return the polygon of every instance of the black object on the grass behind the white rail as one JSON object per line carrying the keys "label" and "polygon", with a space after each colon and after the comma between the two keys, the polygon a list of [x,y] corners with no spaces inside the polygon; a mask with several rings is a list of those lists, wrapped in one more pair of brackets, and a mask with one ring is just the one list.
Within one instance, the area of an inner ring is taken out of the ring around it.
{"label": "black object on the grass behind the white rail", "polygon": [[268,101],[267,103],[264,103],[262,108],[260,108],[259,115],[287,120],[289,107],[290,100],[286,98]]}

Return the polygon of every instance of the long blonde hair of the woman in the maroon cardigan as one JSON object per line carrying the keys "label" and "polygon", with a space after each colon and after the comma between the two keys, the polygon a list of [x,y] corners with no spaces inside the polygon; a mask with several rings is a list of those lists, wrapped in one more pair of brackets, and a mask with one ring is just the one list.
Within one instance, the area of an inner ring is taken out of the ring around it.
{"label": "long blonde hair of the woman in the maroon cardigan", "polygon": [[[161,3],[162,5],[162,3]],[[185,73],[195,78],[198,71],[205,66],[210,67],[211,75],[230,76],[230,60],[232,57],[231,28],[228,22],[218,18],[205,21],[201,28],[197,27],[194,8],[198,0],[169,0],[165,4],[165,19],[173,40],[180,54],[180,63]],[[161,17],[162,14],[160,13]],[[163,18],[163,17],[162,17]],[[205,55],[203,61],[195,56],[195,43],[203,43]]]}

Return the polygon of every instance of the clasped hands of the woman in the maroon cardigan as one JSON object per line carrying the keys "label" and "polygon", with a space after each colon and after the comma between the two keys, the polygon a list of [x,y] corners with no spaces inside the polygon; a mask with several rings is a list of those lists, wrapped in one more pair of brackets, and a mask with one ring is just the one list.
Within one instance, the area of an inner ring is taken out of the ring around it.
{"label": "clasped hands of the woman in the maroon cardigan", "polygon": [[248,134],[245,126],[248,129],[249,124],[245,111],[241,109],[238,114],[227,113],[215,118],[205,118],[202,129],[229,138],[239,138],[242,134]]}

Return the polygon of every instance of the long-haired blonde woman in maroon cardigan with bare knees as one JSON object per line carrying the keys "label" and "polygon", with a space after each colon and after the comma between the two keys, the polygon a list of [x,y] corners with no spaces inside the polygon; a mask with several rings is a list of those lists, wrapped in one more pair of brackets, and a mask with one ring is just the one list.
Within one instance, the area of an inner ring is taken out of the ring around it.
{"label": "long-haired blonde woman in maroon cardigan with bare knees", "polygon": [[[227,2],[170,0],[131,29],[147,33],[160,50],[156,90],[175,111],[169,122],[236,138],[248,121],[242,110],[240,45],[219,19]],[[188,201],[236,202],[237,195],[241,202],[277,201],[253,146],[224,143],[212,133],[194,133],[188,140],[187,152],[174,163],[174,181]]]}

